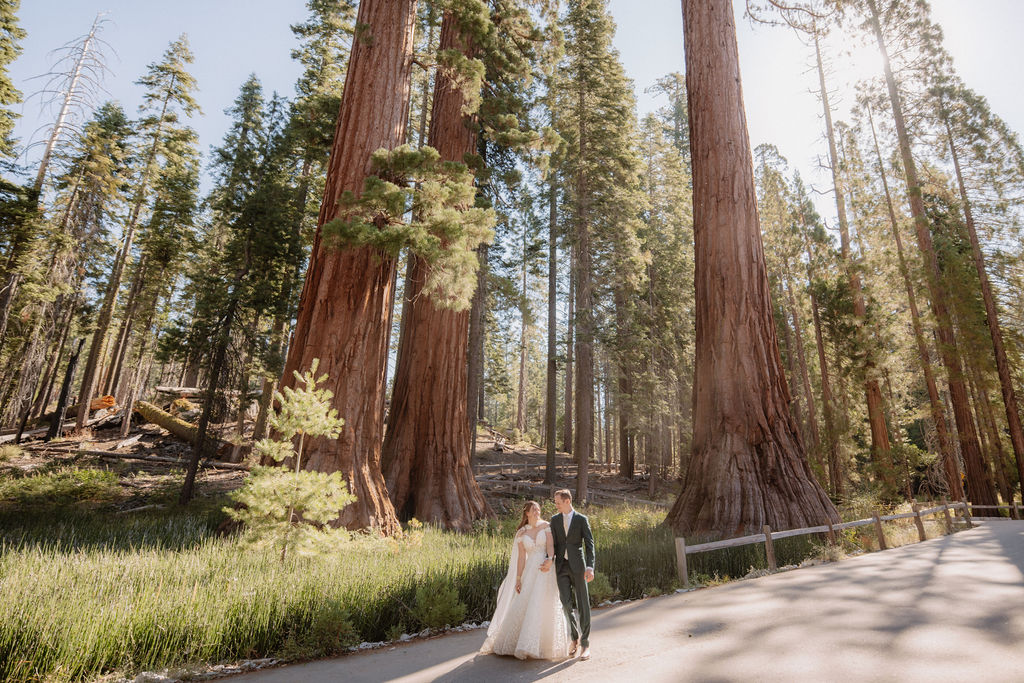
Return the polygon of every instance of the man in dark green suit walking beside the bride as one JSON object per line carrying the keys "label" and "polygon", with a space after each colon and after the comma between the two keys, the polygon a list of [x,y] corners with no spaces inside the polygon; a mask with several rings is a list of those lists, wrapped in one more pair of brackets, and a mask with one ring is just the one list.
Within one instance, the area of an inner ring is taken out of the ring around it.
{"label": "man in dark green suit walking beside the bride", "polygon": [[[590,658],[590,594],[587,584],[594,581],[594,535],[590,521],[572,509],[572,494],[567,488],[555,492],[558,514],[551,518],[555,542],[555,575],[562,608],[572,632],[570,655],[583,646],[581,659]],[[550,565],[547,565],[550,566]],[[545,567],[547,569],[547,567]],[[580,622],[572,614],[572,594],[575,593]]]}

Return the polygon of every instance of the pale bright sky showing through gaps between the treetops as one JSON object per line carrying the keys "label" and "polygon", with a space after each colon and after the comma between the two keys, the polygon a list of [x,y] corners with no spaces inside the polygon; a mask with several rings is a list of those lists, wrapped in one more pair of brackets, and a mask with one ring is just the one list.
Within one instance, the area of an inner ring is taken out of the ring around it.
{"label": "pale bright sky showing through gaps between the treetops", "polygon": [[[964,81],[984,95],[993,111],[1018,133],[1024,133],[1024,88],[1019,71],[1024,67],[1024,0],[931,0],[933,17],[942,26],[945,46]],[[810,73],[811,52],[792,30],[753,25],[742,16],[743,0],[734,0],[740,72],[751,144],[775,144],[812,187],[824,190],[828,177],[820,167],[825,153],[816,75]],[[617,25],[614,44],[627,74],[633,79],[641,116],[664,102],[644,90],[659,77],[683,71],[682,13],[679,0],[609,0]],[[20,26],[28,32],[24,52],[10,67],[11,78],[25,94],[23,118],[15,136],[23,143],[43,138],[41,126],[52,122],[54,109],[42,97],[30,96],[45,79],[53,61],[51,50],[87,33],[97,11],[109,24],[101,37],[110,44],[111,74],[102,97],[116,99],[133,115],[141,90],[134,81],[145,66],[160,59],[168,43],[188,35],[199,82],[198,99],[204,116],[190,124],[207,154],[227,130],[224,110],[239,87],[255,73],[267,94],[290,95],[300,73],[290,58],[296,42],[289,26],[304,19],[303,0],[28,0],[19,10]],[[845,43],[841,36],[836,43]],[[836,59],[833,104],[837,120],[849,114],[852,83],[873,75],[876,53],[856,48],[852,56]],[[41,145],[20,160],[34,166]],[[208,186],[208,185],[207,185]],[[835,213],[830,198],[816,196],[826,217]],[[829,220],[829,223],[831,221]]]}

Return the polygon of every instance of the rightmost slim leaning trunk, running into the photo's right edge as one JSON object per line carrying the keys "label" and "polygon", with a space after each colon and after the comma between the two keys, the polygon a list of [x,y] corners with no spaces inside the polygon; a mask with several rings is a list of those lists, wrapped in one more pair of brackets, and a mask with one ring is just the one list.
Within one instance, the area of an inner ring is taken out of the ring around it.
{"label": "rightmost slim leaning trunk, running into the photo's right edge", "polygon": [[[961,171],[959,154],[953,140],[949,115],[945,114],[946,135],[949,139],[949,152],[956,171],[956,184],[959,187],[961,204],[964,205],[964,217],[967,222],[968,237],[971,239],[971,252],[974,255],[974,267],[981,282],[981,298],[985,303],[985,322],[988,324],[988,334],[992,338],[992,353],[995,355],[995,369],[999,375],[999,388],[1002,390],[1002,404],[1006,407],[1007,425],[1010,430],[1010,443],[1014,447],[1014,459],[1017,462],[1017,476],[1024,492],[1024,431],[1021,429],[1021,416],[1017,408],[1017,392],[1014,390],[1013,379],[1010,377],[1010,364],[1007,361],[1007,349],[1002,344],[1002,330],[999,327],[999,313],[995,308],[995,296],[992,294],[992,284],[988,280],[988,269],[985,267],[985,256],[978,240],[978,229],[974,224],[974,212],[971,210],[971,200],[964,183],[964,173]],[[987,395],[985,400],[988,400]],[[1001,450],[1001,444],[1000,444]]]}

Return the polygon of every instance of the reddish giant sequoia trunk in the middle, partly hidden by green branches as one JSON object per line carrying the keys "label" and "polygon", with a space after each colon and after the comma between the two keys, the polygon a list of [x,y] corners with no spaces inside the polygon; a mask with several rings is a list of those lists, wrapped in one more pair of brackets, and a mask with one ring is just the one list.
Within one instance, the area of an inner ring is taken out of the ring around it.
{"label": "reddish giant sequoia trunk in the middle, partly hidden by green branches", "polygon": [[[457,18],[445,12],[440,49],[471,53]],[[452,78],[437,74],[428,144],[441,159],[461,162],[476,150],[473,123],[462,113],[464,96]],[[424,295],[430,264],[410,254],[410,302],[391,395],[381,463],[391,502],[402,520],[417,519],[470,530],[494,513],[476,485],[466,417],[467,339],[470,310],[438,308]]]}

